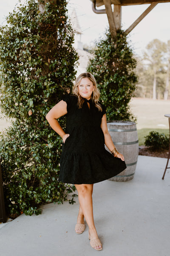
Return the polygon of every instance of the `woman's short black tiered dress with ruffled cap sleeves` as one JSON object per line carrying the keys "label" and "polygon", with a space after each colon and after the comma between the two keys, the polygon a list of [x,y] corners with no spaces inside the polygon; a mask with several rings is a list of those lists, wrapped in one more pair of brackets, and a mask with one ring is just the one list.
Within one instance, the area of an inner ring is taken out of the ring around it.
{"label": "woman's short black tiered dress with ruffled cap sleeves", "polygon": [[[67,103],[65,133],[70,136],[62,146],[59,181],[71,184],[93,184],[118,175],[126,164],[105,149],[100,127],[105,106],[99,111],[92,100],[85,99],[78,108],[77,96],[63,98]],[[90,109],[87,102],[90,104]]]}

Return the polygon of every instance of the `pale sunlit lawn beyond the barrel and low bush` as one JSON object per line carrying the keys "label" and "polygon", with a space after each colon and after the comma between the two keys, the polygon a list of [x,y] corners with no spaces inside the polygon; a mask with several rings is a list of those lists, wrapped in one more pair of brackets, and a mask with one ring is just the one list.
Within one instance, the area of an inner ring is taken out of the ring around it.
{"label": "pale sunlit lawn beyond the barrel and low bush", "polygon": [[132,98],[130,110],[137,119],[139,145],[144,145],[144,137],[149,135],[150,131],[169,135],[168,118],[164,114],[170,113],[170,100]]}

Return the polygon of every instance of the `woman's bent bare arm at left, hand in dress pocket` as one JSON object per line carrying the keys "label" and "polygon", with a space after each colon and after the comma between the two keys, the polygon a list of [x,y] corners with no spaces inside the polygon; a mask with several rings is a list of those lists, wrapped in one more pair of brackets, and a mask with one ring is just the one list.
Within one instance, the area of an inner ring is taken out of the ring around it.
{"label": "woman's bent bare arm at left, hand in dress pocket", "polygon": [[67,103],[61,100],[59,103],[57,103],[57,105],[51,108],[51,110],[45,116],[51,128],[53,128],[53,130],[56,131],[57,134],[59,134],[62,137],[62,140],[64,143],[67,137],[69,136],[69,134],[65,133],[65,131],[59,125],[59,122],[57,121],[57,119],[61,116],[64,116],[66,113],[67,113]]}

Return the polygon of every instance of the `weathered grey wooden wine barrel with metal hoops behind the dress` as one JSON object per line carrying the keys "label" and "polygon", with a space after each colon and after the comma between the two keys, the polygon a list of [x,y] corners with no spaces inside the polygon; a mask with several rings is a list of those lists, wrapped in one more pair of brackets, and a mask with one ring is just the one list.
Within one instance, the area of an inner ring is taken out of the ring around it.
{"label": "weathered grey wooden wine barrel with metal hoops behind the dress", "polygon": [[125,157],[127,168],[119,175],[109,180],[132,180],[135,174],[139,154],[139,140],[135,122],[111,121],[107,122],[108,131],[117,150]]}

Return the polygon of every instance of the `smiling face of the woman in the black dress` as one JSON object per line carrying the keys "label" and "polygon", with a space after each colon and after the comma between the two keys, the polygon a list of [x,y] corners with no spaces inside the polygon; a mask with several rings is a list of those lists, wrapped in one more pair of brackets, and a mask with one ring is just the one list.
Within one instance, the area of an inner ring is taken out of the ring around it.
{"label": "smiling face of the woman in the black dress", "polygon": [[79,85],[79,95],[85,99],[91,99],[91,94],[94,91],[94,84],[87,78],[82,78]]}

